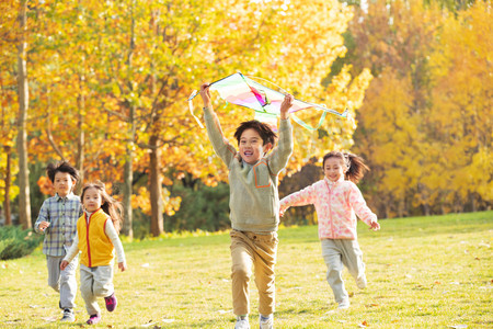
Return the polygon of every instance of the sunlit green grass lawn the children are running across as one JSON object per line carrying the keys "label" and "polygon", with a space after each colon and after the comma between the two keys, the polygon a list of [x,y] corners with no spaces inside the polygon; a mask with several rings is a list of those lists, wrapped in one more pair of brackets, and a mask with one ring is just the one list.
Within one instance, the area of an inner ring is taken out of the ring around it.
{"label": "sunlit green grass lawn the children are running across", "polygon": [[[359,223],[368,287],[344,272],[352,306],[336,311],[325,281],[317,227],[279,230],[276,328],[492,328],[493,212]],[[233,328],[229,235],[124,243],[128,270],[115,274],[118,308],[100,328]],[[79,271],[78,271],[79,272]],[[1,328],[89,327],[77,296],[77,321],[64,325],[46,261],[0,261]],[[252,328],[257,293],[251,290]],[[467,326],[467,327],[466,327]]]}

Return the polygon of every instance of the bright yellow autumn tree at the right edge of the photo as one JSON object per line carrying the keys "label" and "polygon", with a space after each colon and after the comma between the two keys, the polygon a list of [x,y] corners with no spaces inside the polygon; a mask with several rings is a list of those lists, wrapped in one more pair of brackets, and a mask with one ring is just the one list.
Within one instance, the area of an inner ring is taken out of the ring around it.
{"label": "bright yellow autumn tree at the right edge of the photo", "polygon": [[493,201],[491,3],[449,16],[431,56],[429,172],[425,182],[443,212]]}

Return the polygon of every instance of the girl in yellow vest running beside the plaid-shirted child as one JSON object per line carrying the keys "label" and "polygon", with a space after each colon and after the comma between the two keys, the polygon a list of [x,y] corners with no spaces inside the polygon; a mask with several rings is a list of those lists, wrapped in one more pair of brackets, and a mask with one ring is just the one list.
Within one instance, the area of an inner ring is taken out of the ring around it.
{"label": "girl in yellow vest running beside the plaid-shirted child", "polygon": [[101,320],[96,297],[104,297],[108,311],[116,308],[113,286],[115,249],[118,269],[122,272],[127,269],[123,246],[118,239],[122,206],[106,193],[101,182],[85,185],[80,198],[84,214],[77,222],[76,238],[60,269],[64,270],[79,251],[81,252],[80,292],[89,314],[87,324],[95,325]]}

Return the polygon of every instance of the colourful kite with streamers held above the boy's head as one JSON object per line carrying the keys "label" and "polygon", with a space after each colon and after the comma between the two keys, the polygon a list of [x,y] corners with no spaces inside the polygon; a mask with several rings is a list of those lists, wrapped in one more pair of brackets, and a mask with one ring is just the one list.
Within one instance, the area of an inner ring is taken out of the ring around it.
{"label": "colourful kite with streamers held above the boy's head", "polygon": [[[209,88],[210,90],[218,91],[219,95],[227,102],[254,110],[256,120],[270,123],[274,122],[274,126],[276,125],[277,115],[280,114],[280,104],[287,93],[280,88],[279,91],[267,88],[240,72],[217,80],[216,82],[210,83]],[[198,125],[204,127],[193,112],[192,100],[197,94],[198,91],[195,90],[190,95],[188,106]],[[309,126],[294,114],[297,111],[306,109],[313,109],[322,112],[317,127]],[[320,127],[326,113],[332,113],[341,117],[347,117],[347,110],[343,113],[339,113],[335,110],[326,109],[324,105],[308,103],[296,99],[293,102],[293,106],[289,109],[289,113],[295,122],[310,131],[317,131]]]}

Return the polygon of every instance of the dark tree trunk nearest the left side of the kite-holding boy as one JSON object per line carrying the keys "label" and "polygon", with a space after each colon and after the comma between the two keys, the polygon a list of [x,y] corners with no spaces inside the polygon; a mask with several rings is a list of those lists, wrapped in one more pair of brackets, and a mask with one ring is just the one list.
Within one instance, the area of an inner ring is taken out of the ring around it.
{"label": "dark tree trunk nearest the left side of the kite-holding boy", "polygon": [[151,202],[151,234],[158,237],[163,232],[163,204],[162,204],[162,184],[159,162],[158,136],[152,135],[149,139],[151,152],[149,154],[149,188]]}

